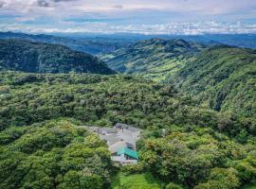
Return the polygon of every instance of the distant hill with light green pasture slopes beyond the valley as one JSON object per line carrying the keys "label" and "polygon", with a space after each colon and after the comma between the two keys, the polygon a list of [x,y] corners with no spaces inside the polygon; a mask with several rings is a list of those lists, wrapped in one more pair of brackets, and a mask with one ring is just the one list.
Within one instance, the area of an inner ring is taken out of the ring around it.
{"label": "distant hill with light green pasture slopes beyond the valley", "polygon": [[155,80],[174,74],[206,46],[183,40],[152,39],[131,44],[102,60],[120,73],[139,74]]}

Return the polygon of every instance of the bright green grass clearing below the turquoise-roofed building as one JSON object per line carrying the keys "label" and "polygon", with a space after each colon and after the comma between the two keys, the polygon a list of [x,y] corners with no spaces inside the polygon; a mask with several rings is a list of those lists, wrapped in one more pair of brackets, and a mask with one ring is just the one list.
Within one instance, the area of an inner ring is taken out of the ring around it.
{"label": "bright green grass clearing below the turquoise-roofed building", "polygon": [[119,173],[111,189],[160,189],[161,184],[151,173],[124,175]]}

